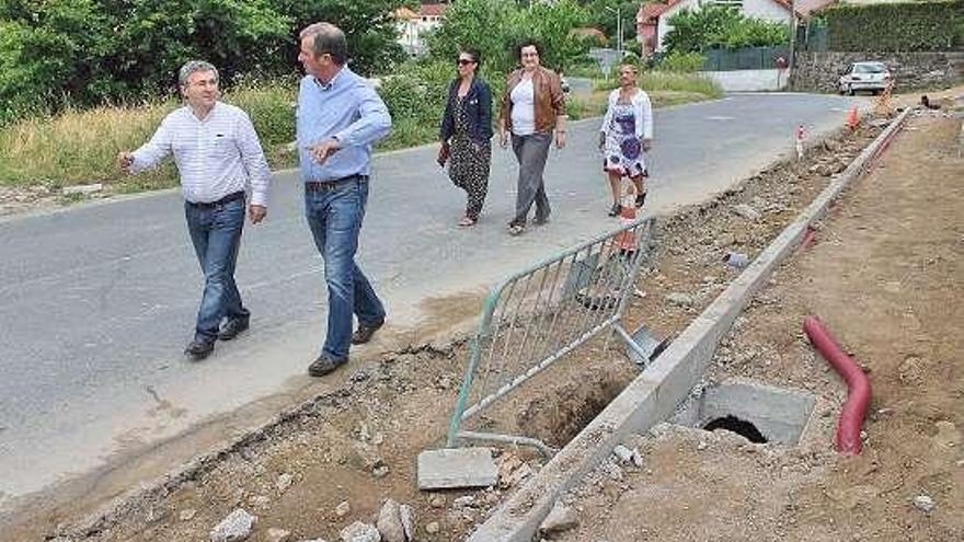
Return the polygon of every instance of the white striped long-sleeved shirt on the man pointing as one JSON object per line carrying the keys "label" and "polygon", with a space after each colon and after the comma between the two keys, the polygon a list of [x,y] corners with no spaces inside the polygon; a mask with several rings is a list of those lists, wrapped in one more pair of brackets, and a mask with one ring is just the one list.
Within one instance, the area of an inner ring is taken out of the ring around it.
{"label": "white striped long-sleeved shirt on the man pointing", "polygon": [[171,112],[151,140],[134,151],[131,171],[153,168],[171,153],[188,201],[217,201],[250,185],[251,204],[267,205],[271,170],[240,108],[217,102],[204,120],[187,105]]}

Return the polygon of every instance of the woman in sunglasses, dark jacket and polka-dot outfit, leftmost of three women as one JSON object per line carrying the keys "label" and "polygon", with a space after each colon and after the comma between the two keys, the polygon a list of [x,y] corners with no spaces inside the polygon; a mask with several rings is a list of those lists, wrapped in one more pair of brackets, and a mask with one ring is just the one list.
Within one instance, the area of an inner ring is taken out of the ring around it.
{"label": "woman in sunglasses, dark jacket and polka-dot outfit, leftmost of three women", "polygon": [[479,51],[459,53],[459,77],[449,85],[441,117],[441,148],[438,163],[448,162],[452,183],[466,191],[466,216],[459,226],[474,226],[489,192],[492,159],[492,91],[479,79]]}

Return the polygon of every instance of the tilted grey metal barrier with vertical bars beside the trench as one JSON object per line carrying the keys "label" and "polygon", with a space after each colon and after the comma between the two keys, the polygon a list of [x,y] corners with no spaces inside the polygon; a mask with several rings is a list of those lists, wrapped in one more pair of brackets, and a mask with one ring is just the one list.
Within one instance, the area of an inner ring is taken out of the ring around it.
{"label": "tilted grey metal barrier with vertical bars beside the trench", "polygon": [[640,219],[517,273],[493,288],[482,311],[449,426],[459,439],[552,449],[524,436],[462,429],[472,416],[608,328],[645,359],[621,326],[627,300],[646,258],[653,219]]}

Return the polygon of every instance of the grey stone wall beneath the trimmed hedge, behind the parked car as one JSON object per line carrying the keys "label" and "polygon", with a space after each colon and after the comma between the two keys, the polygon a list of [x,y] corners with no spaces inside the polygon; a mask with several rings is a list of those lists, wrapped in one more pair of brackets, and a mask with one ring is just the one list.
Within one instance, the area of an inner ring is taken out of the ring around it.
{"label": "grey stone wall beneath the trimmed hedge, behind the parked car", "polygon": [[790,88],[804,92],[837,92],[837,81],[851,62],[881,61],[897,80],[897,92],[946,88],[964,79],[964,51],[949,53],[800,53]]}

